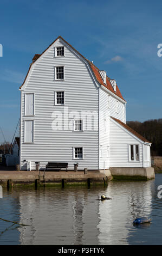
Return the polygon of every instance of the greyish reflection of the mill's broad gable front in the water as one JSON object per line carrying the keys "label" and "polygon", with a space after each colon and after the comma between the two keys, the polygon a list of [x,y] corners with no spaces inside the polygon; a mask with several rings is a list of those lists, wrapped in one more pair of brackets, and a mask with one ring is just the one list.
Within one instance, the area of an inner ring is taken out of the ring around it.
{"label": "greyish reflection of the mill's broad gable front in the water", "polygon": [[[48,188],[35,191],[35,196],[33,191],[28,191],[28,197],[27,193],[22,193],[20,218],[21,222],[30,223],[30,226],[19,229],[21,245],[82,245],[92,241],[92,237],[98,243],[96,223],[99,222],[99,201],[93,199],[93,202],[89,202],[91,198],[92,194],[88,195],[87,188]],[[89,237],[92,230],[93,235]]]}

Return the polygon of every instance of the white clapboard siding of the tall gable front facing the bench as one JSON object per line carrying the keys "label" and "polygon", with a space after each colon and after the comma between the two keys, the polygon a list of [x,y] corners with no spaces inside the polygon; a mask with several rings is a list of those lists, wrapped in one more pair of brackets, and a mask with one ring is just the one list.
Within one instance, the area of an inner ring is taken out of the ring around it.
{"label": "white clapboard siding of the tall gable front facing the bench", "polygon": [[[53,112],[63,112],[63,106],[55,105],[57,91],[65,92],[65,106],[69,112],[79,111],[80,115],[81,111],[98,113],[98,90],[87,65],[67,46],[64,48],[65,57],[54,57],[56,45],[63,44],[57,40],[36,61],[22,90],[21,169],[27,169],[24,160],[31,161],[31,169],[35,169],[37,161],[41,168],[47,162],[68,162],[69,169],[74,169],[74,163],[79,162],[79,169],[98,169],[98,130],[73,132],[52,129]],[[64,66],[64,81],[54,81],[54,67],[61,65]],[[25,93],[34,93],[34,117],[24,116]],[[34,120],[33,144],[24,143],[24,120]],[[64,125],[64,121],[62,123]],[[83,160],[73,159],[73,147],[83,147]]]}

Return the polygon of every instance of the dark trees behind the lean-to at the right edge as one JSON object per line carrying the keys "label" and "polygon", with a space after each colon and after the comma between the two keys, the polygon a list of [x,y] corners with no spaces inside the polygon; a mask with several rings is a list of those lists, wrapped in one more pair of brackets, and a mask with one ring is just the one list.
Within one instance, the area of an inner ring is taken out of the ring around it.
{"label": "dark trees behind the lean-to at the right edge", "polygon": [[152,143],[151,156],[162,156],[162,119],[127,121],[126,124]]}

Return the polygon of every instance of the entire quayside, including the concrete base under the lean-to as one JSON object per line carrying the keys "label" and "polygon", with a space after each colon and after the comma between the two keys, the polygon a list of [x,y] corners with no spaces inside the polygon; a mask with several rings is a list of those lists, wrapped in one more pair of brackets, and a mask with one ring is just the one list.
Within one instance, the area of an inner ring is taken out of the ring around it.
{"label": "entire quayside, including the concrete base under the lean-to", "polygon": [[[45,174],[45,175],[44,175]],[[150,180],[154,179],[154,168],[110,168],[100,171],[78,172],[37,172],[0,171],[0,185],[14,186],[92,186],[108,185],[111,180]]]}

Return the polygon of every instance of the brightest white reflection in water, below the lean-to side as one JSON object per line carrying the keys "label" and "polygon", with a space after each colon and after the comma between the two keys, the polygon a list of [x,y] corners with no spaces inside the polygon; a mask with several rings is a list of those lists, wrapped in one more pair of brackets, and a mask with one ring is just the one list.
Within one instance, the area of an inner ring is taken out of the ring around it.
{"label": "brightest white reflection in water, below the lean-to side", "polygon": [[151,182],[110,182],[107,196],[113,200],[100,203],[99,241],[102,245],[128,245],[133,220],[151,214]]}

